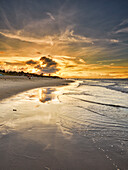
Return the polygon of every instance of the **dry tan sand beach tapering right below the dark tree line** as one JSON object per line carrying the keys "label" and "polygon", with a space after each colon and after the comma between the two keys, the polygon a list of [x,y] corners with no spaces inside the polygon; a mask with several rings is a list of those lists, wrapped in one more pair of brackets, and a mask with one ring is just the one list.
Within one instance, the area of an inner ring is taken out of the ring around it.
{"label": "dry tan sand beach tapering right below the dark tree line", "polygon": [[3,76],[0,77],[0,101],[18,93],[39,87],[68,85],[72,80],[25,76]]}

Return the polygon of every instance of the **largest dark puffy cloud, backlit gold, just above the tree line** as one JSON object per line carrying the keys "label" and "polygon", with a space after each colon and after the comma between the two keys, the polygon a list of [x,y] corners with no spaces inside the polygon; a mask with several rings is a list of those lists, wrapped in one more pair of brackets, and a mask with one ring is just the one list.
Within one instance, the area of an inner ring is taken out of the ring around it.
{"label": "largest dark puffy cloud, backlit gold, just above the tree line", "polygon": [[[49,56],[50,57],[50,56]],[[59,69],[57,68],[57,63],[51,58],[43,56],[40,58],[41,64],[35,66],[42,73],[55,73]]]}

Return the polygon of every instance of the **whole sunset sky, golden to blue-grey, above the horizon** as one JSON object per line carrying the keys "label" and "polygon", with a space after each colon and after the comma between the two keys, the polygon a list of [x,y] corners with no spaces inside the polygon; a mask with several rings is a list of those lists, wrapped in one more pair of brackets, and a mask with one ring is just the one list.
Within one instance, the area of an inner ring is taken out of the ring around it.
{"label": "whole sunset sky, golden to blue-grey, above the horizon", "polygon": [[0,69],[128,78],[128,1],[0,0]]}

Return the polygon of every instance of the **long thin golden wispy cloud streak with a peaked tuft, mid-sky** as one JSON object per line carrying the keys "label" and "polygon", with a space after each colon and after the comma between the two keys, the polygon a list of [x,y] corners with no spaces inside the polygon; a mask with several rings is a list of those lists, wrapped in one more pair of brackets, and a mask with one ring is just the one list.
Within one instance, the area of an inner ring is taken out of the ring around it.
{"label": "long thin golden wispy cloud streak with a peaked tuft, mid-sky", "polygon": [[[26,42],[31,42],[31,43],[37,43],[37,44],[50,44],[53,45],[55,43],[89,43],[89,44],[93,44],[94,41],[97,41],[96,39],[93,38],[88,38],[85,36],[81,36],[81,35],[76,35],[74,34],[73,30],[69,30],[66,29],[64,32],[61,32],[60,34],[55,34],[55,35],[47,35],[44,37],[40,37],[40,38],[34,38],[34,37],[27,37],[27,36],[23,36],[22,31],[18,30],[18,31],[13,31],[10,32],[8,30],[4,30],[4,31],[0,31],[0,34],[8,37],[8,38],[12,38],[12,39],[18,39],[21,41],[26,41]],[[20,35],[21,34],[21,35]]]}

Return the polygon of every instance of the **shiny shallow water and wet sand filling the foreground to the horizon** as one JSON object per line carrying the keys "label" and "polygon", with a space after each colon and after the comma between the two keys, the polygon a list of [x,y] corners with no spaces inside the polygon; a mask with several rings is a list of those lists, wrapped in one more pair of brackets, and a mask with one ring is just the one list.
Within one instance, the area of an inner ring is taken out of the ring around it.
{"label": "shiny shallow water and wet sand filling the foreground to the horizon", "polygon": [[0,169],[128,170],[128,79],[74,79],[1,101]]}

